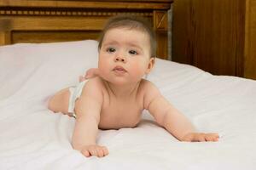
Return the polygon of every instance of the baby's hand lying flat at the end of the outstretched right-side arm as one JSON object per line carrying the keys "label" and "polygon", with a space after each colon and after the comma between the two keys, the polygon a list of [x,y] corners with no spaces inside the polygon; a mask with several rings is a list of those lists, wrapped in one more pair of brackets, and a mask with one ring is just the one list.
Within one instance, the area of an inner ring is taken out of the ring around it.
{"label": "baby's hand lying flat at the end of the outstretched right-side arm", "polygon": [[218,133],[188,133],[182,141],[185,142],[217,142]]}

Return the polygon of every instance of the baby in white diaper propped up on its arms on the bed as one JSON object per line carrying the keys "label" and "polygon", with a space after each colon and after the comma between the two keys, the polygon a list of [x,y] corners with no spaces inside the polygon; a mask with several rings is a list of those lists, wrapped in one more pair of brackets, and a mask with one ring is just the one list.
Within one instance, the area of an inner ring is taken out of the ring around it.
{"label": "baby in white diaper propped up on its arms on the bed", "polygon": [[99,39],[98,68],[91,78],[49,99],[49,110],[76,118],[73,149],[107,156],[96,144],[98,129],[136,127],[143,110],[180,141],[218,141],[218,133],[197,133],[152,82],[143,79],[154,66],[154,31],[141,19],[119,16],[108,21]]}

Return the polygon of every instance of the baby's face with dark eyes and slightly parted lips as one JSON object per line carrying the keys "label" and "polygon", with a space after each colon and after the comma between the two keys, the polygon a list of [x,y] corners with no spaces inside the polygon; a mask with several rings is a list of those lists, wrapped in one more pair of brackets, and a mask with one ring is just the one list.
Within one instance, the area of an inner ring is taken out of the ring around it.
{"label": "baby's face with dark eyes and slightly parted lips", "polygon": [[154,65],[154,59],[150,59],[149,55],[148,34],[127,28],[113,28],[103,38],[98,68],[108,82],[138,82]]}

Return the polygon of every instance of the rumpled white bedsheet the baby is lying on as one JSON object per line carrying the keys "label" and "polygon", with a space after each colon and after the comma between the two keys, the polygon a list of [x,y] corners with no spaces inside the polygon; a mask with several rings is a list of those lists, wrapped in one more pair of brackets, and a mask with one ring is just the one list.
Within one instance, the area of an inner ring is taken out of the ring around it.
{"label": "rumpled white bedsheet the baby is lying on", "polygon": [[256,169],[256,81],[161,59],[148,79],[219,141],[179,142],[145,111],[136,128],[100,131],[108,156],[73,150],[74,119],[48,111],[47,99],[95,67],[96,53],[90,41],[0,48],[0,169]]}

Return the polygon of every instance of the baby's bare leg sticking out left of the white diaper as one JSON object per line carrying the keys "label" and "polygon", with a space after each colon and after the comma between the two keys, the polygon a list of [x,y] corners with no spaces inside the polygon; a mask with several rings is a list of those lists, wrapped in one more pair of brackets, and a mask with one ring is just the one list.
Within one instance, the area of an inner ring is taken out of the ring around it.
{"label": "baby's bare leg sticking out left of the white diaper", "polygon": [[49,99],[48,109],[68,114],[69,88],[64,88]]}

